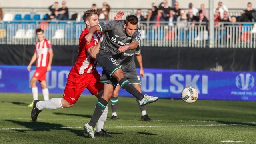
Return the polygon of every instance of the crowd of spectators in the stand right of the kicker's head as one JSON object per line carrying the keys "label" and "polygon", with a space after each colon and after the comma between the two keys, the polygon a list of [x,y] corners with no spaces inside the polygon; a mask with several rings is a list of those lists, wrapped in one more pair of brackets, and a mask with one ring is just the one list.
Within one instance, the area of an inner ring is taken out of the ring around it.
{"label": "crowd of spectators in the stand right of the kicker's head", "polygon": [[[218,6],[213,11],[215,26],[220,26],[220,22],[231,22],[232,16],[229,16],[228,8],[223,2],[218,2]],[[207,24],[209,10],[205,8],[204,4],[201,4],[200,9],[198,9],[192,3],[188,4],[187,9],[181,10],[178,2],[174,2],[174,7],[172,8],[169,6],[168,1],[164,0],[158,6],[152,3],[152,7],[148,9],[146,16],[142,16],[141,10],[138,9],[137,17],[141,24],[145,23],[142,21],[155,21],[157,26],[168,22],[169,26],[176,24],[178,27],[184,27]],[[252,9],[252,3],[248,2],[247,9],[241,12],[241,16],[235,18],[238,22],[255,22],[256,12]]]}

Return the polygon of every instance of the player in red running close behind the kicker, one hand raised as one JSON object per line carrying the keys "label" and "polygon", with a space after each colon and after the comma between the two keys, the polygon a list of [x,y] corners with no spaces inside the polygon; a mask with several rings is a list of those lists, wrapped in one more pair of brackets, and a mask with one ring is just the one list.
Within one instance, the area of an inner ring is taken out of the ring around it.
{"label": "player in red running close behind the kicker, one hand raised", "polygon": [[[123,12],[118,12],[116,19],[121,19]],[[95,32],[89,43],[86,42],[85,36],[88,34],[90,26],[99,23],[97,10],[87,10],[83,16],[86,28],[82,31],[79,38],[78,58],[75,65],[70,70],[68,81],[64,90],[63,98],[52,98],[46,101],[34,101],[31,112],[31,118],[36,121],[38,114],[42,109],[70,108],[74,106],[82,92],[87,88],[91,94],[100,98],[103,93],[103,84],[100,82],[100,74],[96,70],[96,54],[99,52],[100,43],[102,42],[102,32]],[[103,130],[106,121],[108,108],[102,114],[97,122],[96,136],[110,136]]]}

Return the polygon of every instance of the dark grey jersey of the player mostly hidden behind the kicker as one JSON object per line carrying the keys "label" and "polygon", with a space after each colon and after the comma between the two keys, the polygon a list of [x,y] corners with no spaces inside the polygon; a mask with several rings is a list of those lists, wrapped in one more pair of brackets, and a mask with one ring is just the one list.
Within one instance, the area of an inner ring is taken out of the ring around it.
{"label": "dark grey jersey of the player mostly hidden behind the kicker", "polygon": [[140,54],[140,45],[134,50],[126,50],[121,56],[120,63],[122,70],[125,72],[136,72],[134,54]]}

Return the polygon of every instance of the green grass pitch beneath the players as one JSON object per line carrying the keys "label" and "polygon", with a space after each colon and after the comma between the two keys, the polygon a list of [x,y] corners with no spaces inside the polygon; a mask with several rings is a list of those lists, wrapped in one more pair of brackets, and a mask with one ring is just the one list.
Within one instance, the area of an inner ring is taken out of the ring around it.
{"label": "green grass pitch beneath the players", "polygon": [[36,122],[27,107],[31,101],[32,94],[0,93],[0,144],[256,144],[256,102],[160,99],[146,107],[154,121],[142,122],[135,98],[120,97],[118,120],[105,122],[112,137],[91,139],[83,125],[94,111],[95,96],[81,96],[72,108],[44,109]]}

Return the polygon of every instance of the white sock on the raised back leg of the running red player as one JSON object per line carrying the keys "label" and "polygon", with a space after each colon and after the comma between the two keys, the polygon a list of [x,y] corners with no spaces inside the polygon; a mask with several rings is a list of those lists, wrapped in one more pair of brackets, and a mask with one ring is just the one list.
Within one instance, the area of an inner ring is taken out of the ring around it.
{"label": "white sock on the raised back leg of the running red player", "polygon": [[44,108],[53,110],[57,108],[63,108],[61,104],[61,99],[62,98],[52,98],[50,100],[39,101],[37,102],[36,107],[39,110],[42,110]]}

